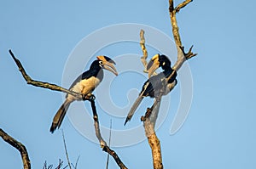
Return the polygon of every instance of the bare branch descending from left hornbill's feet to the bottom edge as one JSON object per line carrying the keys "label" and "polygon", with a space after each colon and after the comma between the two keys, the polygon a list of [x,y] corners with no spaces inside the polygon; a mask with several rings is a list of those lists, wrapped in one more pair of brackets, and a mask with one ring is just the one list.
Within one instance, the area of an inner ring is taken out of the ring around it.
{"label": "bare branch descending from left hornbill's feet to the bottom edge", "polygon": [[127,167],[124,165],[124,163],[119,159],[119,156],[112,149],[110,149],[108,147],[108,144],[102,138],[102,134],[101,134],[101,131],[100,131],[100,125],[99,125],[99,121],[98,121],[98,115],[97,115],[97,112],[96,112],[96,105],[95,105],[94,100],[90,100],[90,106],[91,106],[91,110],[92,110],[92,113],[93,113],[93,120],[94,120],[94,127],[95,127],[96,137],[98,138],[98,140],[100,142],[102,150],[107,152],[109,155],[113,156],[114,161],[116,161],[116,163],[118,164],[120,169],[127,169]]}

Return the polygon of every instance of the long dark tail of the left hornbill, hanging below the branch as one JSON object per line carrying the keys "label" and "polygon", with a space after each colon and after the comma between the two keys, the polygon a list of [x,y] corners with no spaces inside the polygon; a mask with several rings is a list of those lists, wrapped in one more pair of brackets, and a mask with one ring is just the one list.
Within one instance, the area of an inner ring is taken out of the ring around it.
{"label": "long dark tail of the left hornbill, hanging below the branch", "polygon": [[49,129],[49,132],[53,133],[53,132],[55,132],[57,127],[58,128],[61,127],[61,123],[64,119],[64,116],[67,113],[67,109],[70,104],[71,104],[71,102],[69,100],[65,100],[65,102],[61,105],[60,109],[55,114],[55,117],[54,117],[51,127]]}

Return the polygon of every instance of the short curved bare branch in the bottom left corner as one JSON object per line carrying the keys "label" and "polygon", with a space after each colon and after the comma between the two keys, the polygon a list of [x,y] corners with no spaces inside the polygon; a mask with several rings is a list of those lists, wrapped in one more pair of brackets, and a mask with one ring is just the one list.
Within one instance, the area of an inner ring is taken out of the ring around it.
{"label": "short curved bare branch in the bottom left corner", "polygon": [[1,128],[0,128],[0,136],[3,138],[3,140],[6,143],[10,144],[15,149],[18,149],[20,151],[24,169],[30,169],[31,164],[30,164],[30,160],[29,160],[29,157],[28,157],[28,154],[26,151],[26,147],[23,144],[21,144],[20,142],[18,142],[17,140],[15,140],[15,138],[12,138],[11,136],[9,136],[9,134],[4,132],[3,129],[1,129]]}

